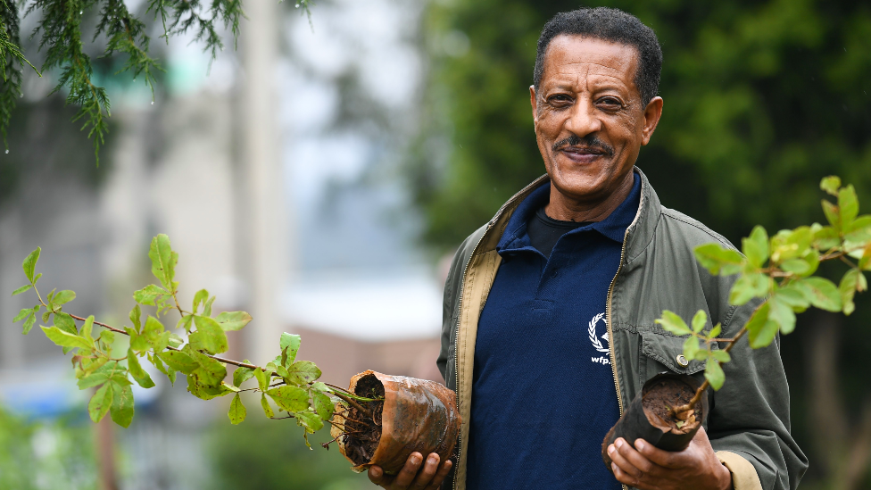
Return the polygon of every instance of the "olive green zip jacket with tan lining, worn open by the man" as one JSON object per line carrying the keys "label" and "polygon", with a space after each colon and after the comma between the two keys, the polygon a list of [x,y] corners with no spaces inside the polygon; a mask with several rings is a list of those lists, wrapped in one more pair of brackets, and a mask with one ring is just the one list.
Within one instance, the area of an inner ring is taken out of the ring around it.
{"label": "olive green zip jacket with tan lining, worn open by the man", "polygon": [[[690,361],[686,366],[676,361],[684,339],[654,323],[663,310],[675,311],[684,319],[704,310],[713,323],[722,324],[722,336],[728,337],[742,328],[758,304],[730,305],[729,289],[735,277],[711,276],[693,255],[697,245],[733,245],[700,222],[662,206],[644,174],[635,171],[642,179],[641,203],[626,229],[605,311],[621,413],[644,382],[659,372],[703,377],[703,361]],[[547,182],[546,175],[536,179],[468,237],[444,285],[442,349],[437,364],[447,386],[457,392],[463,420],[458,461],[452,481],[444,485],[447,488],[466,488],[477,322],[501,262],[496,245],[518,204]],[[735,490],[794,489],[808,460],[790,435],[789,386],[779,339],[758,350],[751,350],[742,340],[731,354],[733,361],[724,365],[726,384],[716,393],[709,391],[706,428],[711,445],[732,471]]]}

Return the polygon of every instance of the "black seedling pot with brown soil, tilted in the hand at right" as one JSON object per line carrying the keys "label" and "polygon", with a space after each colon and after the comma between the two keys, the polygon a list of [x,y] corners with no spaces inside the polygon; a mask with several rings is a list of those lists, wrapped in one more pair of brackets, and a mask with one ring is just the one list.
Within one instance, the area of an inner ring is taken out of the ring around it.
{"label": "black seedling pot with brown soil, tilted in the hand at right", "polygon": [[693,418],[679,420],[671,411],[689,403],[701,382],[685,374],[660,373],[650,378],[601,443],[601,459],[611,470],[608,446],[618,437],[629,444],[644,439],[659,449],[683,451],[708,417],[708,397],[695,404]]}

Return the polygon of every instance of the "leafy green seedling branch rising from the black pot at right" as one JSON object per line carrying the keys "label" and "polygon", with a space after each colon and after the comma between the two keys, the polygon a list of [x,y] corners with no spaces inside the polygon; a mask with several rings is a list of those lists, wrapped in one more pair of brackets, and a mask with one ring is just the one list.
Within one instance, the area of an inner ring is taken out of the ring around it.
{"label": "leafy green seedling branch rising from the black pot at right", "polygon": [[[669,332],[688,336],[684,342],[687,360],[706,362],[705,381],[693,399],[672,409],[678,419],[693,416],[693,407],[709,386],[715,391],[723,386],[726,375],[721,365],[731,361],[729,351],[742,336],[748,336],[751,348],[759,349],[770,345],[778,333],[792,333],[796,313],[810,306],[845,315],[856,310],[854,296],[868,288],[863,270],[871,270],[871,215],[859,216],[856,190],[842,187],[840,178],[826,177],[820,188],[837,199],[837,203],[822,201],[829,223],[826,226],[814,223],[784,229],[774,237],[768,237],[765,228],[757,226],[750,237],[742,239],[742,253],[718,244],[696,247],[696,259],[711,274],[739,274],[729,292],[729,303],[742,305],[754,298],[764,301],[731,338],[718,337],[720,324],[704,332],[708,316],[701,310],[693,316],[690,326],[668,310],[656,320]],[[814,276],[819,264],[829,261],[848,267],[837,286],[827,278]],[[726,347],[714,348],[720,344]]]}

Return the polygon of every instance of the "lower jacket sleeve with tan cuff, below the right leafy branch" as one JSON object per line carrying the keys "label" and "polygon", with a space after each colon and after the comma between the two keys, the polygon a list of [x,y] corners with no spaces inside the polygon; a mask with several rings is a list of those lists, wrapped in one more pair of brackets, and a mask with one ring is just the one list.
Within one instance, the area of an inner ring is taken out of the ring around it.
{"label": "lower jacket sleeve with tan cuff, below the right leafy branch", "polygon": [[[737,334],[759,303],[734,309],[723,336]],[[808,469],[808,459],[790,434],[789,386],[780,338],[765,348],[751,349],[743,336],[731,353],[732,361],[723,365],[726,383],[712,397],[711,445],[732,471],[735,490],[794,490]]]}

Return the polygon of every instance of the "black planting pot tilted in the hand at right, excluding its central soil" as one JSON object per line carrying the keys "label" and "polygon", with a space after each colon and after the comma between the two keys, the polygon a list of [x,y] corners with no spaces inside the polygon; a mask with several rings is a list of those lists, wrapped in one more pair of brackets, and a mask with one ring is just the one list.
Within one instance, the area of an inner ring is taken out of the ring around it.
{"label": "black planting pot tilted in the hand at right, excluding its central soil", "polygon": [[[660,373],[644,383],[641,393],[635,395],[635,399],[632,403],[629,403],[626,411],[623,412],[623,416],[608,431],[608,434],[601,443],[601,459],[609,470],[611,469],[611,459],[608,456],[608,446],[613,444],[618,437],[623,437],[629,444],[635,444],[635,439],[644,439],[648,443],[666,451],[683,451],[690,444],[693,436],[699,431],[705,418],[708,417],[707,396],[703,395],[699,403],[696,403],[694,407],[695,418],[698,423],[685,432],[683,430],[660,427],[662,424],[652,422],[657,417],[644,410],[644,397],[662,388],[665,386],[665,383],[670,384],[672,380],[688,386],[693,393],[701,386],[701,382],[692,376],[668,372]],[[683,403],[678,400],[670,400],[668,404],[668,406],[675,407]]]}

